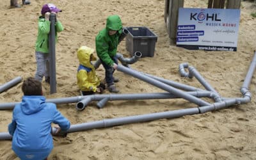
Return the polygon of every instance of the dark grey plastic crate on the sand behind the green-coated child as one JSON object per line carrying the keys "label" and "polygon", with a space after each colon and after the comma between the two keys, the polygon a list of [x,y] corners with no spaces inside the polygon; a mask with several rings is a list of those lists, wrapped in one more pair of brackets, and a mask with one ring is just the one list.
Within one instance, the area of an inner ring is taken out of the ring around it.
{"label": "dark grey plastic crate on the sand behind the green-coated child", "polygon": [[125,38],[125,47],[131,56],[140,51],[142,57],[153,57],[157,42],[157,35],[146,27],[128,27],[129,34]]}

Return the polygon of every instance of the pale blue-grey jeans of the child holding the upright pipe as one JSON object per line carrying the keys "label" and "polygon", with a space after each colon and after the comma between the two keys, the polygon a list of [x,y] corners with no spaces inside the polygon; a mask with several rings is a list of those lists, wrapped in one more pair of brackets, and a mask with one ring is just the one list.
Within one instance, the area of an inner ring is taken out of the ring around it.
{"label": "pale blue-grey jeans of the child holding the upright pipe", "polygon": [[50,54],[36,52],[36,74],[35,79],[42,81],[43,77],[49,77]]}

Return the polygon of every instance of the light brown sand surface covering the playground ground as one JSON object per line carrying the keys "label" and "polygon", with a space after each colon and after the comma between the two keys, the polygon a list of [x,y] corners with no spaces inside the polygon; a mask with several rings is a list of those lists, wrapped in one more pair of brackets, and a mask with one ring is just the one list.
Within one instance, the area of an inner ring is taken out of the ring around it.
{"label": "light brown sand surface covering the playground ground", "polygon": [[[44,3],[52,2],[63,10],[59,14],[64,31],[56,45],[57,93],[43,82],[45,97],[74,97],[79,95],[76,70],[79,65],[76,51],[81,45],[95,48],[95,36],[106,25],[106,17],[120,15],[124,26],[146,26],[158,36],[153,58],[141,58],[132,68],[172,81],[204,88],[193,78],[179,75],[179,64],[187,62],[223,97],[241,97],[239,92],[256,50],[256,19],[250,13],[256,6],[242,2],[237,52],[189,51],[170,45],[164,23],[164,0],[31,0],[22,8],[9,8],[9,1],[0,1],[0,84],[21,76],[35,75],[35,40],[37,19]],[[207,1],[185,1],[186,7],[206,8]],[[129,57],[125,40],[118,52]],[[104,78],[102,66],[97,74]],[[120,93],[163,92],[148,83],[122,72],[115,72]],[[0,94],[0,102],[19,102],[21,84]],[[253,76],[250,92],[252,102],[209,113],[182,116],[74,132],[65,138],[54,137],[54,149],[49,159],[256,159],[256,79]],[[105,92],[109,93],[109,92]],[[206,99],[209,102],[212,100]],[[107,118],[141,115],[193,108],[187,100],[120,100],[109,101],[103,109],[91,102],[83,111],[76,104],[59,104],[58,109],[72,124]],[[7,132],[12,110],[0,111],[0,132]],[[0,141],[0,159],[18,159],[11,141]]]}

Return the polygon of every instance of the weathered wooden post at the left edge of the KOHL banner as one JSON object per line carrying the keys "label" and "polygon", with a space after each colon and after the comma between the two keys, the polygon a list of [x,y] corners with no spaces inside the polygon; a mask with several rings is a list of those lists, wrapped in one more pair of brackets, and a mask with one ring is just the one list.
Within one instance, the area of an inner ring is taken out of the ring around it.
{"label": "weathered wooden post at the left edge of the KOHL banner", "polygon": [[[171,40],[176,40],[179,8],[183,8],[184,0],[166,0],[166,26]],[[169,6],[167,6],[169,4]]]}

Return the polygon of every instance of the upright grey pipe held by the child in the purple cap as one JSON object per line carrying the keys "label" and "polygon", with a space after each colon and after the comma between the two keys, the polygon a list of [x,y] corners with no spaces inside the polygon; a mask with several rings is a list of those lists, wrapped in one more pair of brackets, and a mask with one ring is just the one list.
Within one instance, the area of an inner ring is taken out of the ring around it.
{"label": "upright grey pipe held by the child in the purple cap", "polygon": [[50,68],[50,87],[51,91],[50,93],[56,93],[57,87],[56,87],[56,53],[55,53],[55,21],[56,21],[56,15],[51,13],[50,15],[50,33],[49,33],[49,55],[50,55],[50,62],[49,62],[49,68]]}

